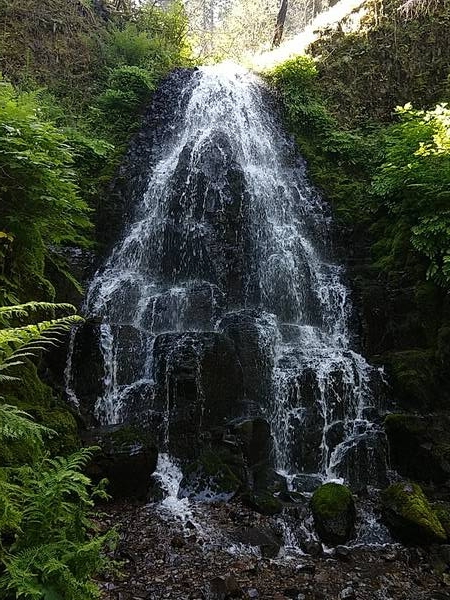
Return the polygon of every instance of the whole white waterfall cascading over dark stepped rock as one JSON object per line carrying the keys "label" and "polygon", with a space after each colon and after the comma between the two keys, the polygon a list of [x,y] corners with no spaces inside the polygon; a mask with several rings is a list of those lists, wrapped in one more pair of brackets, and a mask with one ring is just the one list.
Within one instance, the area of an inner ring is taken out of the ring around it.
{"label": "whole white waterfall cascading over dark stepped rock", "polygon": [[72,396],[89,396],[101,424],[147,422],[165,471],[168,455],[188,464],[253,419],[269,424],[266,459],[294,489],[378,485],[379,374],[354,349],[330,216],[269,93],[228,64],[174,86],[140,158],[142,193],[130,190],[129,223],[87,297],[103,383],[77,389],[71,356]]}

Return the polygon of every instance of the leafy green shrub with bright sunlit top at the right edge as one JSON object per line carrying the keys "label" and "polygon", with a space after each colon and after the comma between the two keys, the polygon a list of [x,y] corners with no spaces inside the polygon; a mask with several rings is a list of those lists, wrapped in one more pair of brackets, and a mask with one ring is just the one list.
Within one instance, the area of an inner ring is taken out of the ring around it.
{"label": "leafy green shrub with bright sunlit top at the right edge", "polygon": [[374,194],[410,230],[429,261],[428,276],[450,285],[450,109],[397,109],[400,122],[385,132],[384,162]]}

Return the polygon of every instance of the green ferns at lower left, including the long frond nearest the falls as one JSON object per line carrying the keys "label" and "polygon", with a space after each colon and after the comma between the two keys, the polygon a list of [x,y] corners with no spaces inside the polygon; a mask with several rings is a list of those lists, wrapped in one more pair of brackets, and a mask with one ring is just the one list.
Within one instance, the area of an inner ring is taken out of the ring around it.
{"label": "green ferns at lower left, including the long frond nearest the falls", "polygon": [[[0,385],[20,385],[33,360],[78,321],[67,304],[0,308]],[[44,319],[44,320],[43,320]],[[58,433],[0,397],[0,598],[98,598],[113,532],[97,535],[90,512],[105,483],[82,470],[95,449],[52,457]]]}

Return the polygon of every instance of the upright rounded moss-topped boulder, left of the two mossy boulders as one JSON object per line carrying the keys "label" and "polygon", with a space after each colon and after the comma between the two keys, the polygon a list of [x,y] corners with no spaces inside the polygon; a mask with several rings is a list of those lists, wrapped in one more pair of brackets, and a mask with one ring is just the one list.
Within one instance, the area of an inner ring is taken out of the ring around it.
{"label": "upright rounded moss-topped boulder, left of the two mossy boulders", "polygon": [[314,525],[326,544],[344,544],[352,536],[356,510],[349,488],[339,483],[325,483],[311,499]]}

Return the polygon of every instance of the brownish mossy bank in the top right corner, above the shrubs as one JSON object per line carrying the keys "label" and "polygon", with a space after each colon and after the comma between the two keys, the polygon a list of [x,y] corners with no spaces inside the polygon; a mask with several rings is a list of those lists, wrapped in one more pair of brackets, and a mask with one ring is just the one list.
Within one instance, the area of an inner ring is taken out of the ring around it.
{"label": "brownish mossy bank in the top right corner, above the shrubs", "polygon": [[326,30],[310,48],[318,59],[318,85],[346,126],[390,121],[396,104],[427,107],[445,93],[450,3],[435,3],[412,19],[398,11],[401,4],[371,0],[359,31]]}

